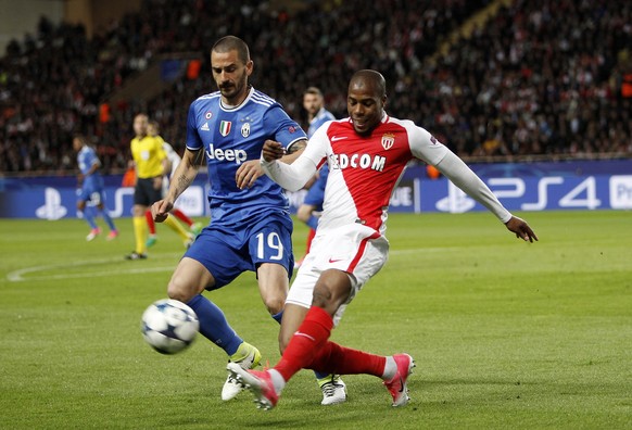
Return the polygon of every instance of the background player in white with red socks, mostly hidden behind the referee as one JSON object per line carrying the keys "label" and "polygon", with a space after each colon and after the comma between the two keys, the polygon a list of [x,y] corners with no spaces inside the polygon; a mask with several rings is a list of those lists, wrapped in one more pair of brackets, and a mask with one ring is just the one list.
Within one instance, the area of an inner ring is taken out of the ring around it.
{"label": "background player in white with red socks, mostly hidden behind the referee", "polygon": [[[165,154],[167,155],[169,170],[165,173],[165,177],[163,179],[163,195],[166,195],[167,190],[169,189],[170,177],[173,176],[174,172],[176,172],[176,168],[178,167],[178,164],[180,164],[180,161],[182,159],[180,157],[180,155],[178,155],[178,153],[174,150],[174,148],[168,142],[165,142],[164,139],[160,136],[160,125],[156,121],[150,119],[148,122],[147,134],[149,136],[153,136],[155,138],[161,139],[162,144],[163,144],[163,150],[165,151]],[[176,224],[175,225],[176,229],[174,230],[180,236],[180,238],[182,239],[182,241],[185,243],[185,246],[189,248],[191,245],[191,243],[193,243],[195,236],[198,236],[200,233],[200,231],[202,231],[202,227],[203,227],[202,224],[194,223],[189,216],[187,216],[187,214],[185,214],[181,210],[179,210],[177,207],[174,207],[172,210],[170,214],[174,215],[176,218],[178,218],[178,220],[186,224],[187,227],[189,228],[189,231],[186,231],[184,228],[180,228],[181,226],[179,224]],[[153,246],[157,241],[157,235],[155,231],[155,223],[153,220],[151,210],[147,211],[146,218],[147,218],[147,225],[149,227],[149,237],[147,238],[147,246],[150,248],[150,246]]]}

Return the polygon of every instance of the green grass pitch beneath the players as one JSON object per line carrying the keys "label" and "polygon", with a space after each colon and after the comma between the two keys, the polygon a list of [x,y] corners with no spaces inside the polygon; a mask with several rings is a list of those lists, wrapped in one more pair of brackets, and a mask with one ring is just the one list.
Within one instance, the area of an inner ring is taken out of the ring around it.
{"label": "green grass pitch beneath the players", "polygon": [[[0,428],[632,428],[632,213],[521,215],[539,243],[486,213],[390,216],[390,261],[332,340],[410,353],[406,407],[369,376],[323,407],[302,371],[267,413],[250,393],[220,401],[227,357],[204,338],[174,356],[143,342],[140,315],[184,251],[166,227],[148,261],[126,262],[129,218],[89,243],[81,220],[2,219]],[[305,236],[296,224],[296,254]],[[276,363],[253,274],[206,295]]]}

